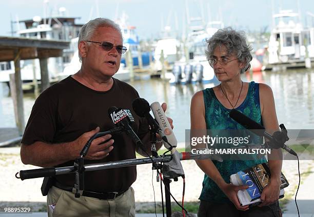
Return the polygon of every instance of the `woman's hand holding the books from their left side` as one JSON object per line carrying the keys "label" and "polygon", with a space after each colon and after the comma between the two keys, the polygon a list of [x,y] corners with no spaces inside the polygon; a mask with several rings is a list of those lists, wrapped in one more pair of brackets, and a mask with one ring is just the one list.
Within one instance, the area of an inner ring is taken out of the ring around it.
{"label": "woman's hand holding the books from their left side", "polygon": [[234,204],[235,208],[241,211],[246,211],[249,209],[248,205],[241,206],[239,199],[238,199],[238,191],[242,189],[247,189],[247,185],[232,185],[232,184],[225,184],[221,190],[226,194],[229,200]]}

